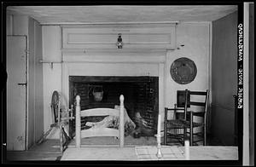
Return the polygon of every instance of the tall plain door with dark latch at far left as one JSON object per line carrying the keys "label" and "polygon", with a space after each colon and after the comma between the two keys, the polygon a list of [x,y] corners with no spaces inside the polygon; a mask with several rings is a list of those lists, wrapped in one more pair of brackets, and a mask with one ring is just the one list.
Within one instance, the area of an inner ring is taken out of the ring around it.
{"label": "tall plain door with dark latch at far left", "polygon": [[26,36],[7,36],[7,150],[9,151],[26,150],[26,40]]}

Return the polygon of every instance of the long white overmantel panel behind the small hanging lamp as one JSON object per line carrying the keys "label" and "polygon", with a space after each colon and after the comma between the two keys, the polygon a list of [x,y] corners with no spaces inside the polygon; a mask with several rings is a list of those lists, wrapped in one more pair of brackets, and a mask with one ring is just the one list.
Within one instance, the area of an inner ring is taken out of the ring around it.
{"label": "long white overmantel panel behind the small hanging lamp", "polygon": [[119,33],[125,49],[174,49],[175,24],[63,26],[63,49],[116,49]]}

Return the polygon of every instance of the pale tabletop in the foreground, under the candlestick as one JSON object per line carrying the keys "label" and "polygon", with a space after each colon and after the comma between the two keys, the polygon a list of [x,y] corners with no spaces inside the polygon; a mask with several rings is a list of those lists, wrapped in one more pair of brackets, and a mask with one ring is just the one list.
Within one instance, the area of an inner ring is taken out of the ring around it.
{"label": "pale tabletop in the foreground, under the candlestick", "polygon": [[[156,157],[156,146],[142,147],[80,147],[68,148],[61,161],[151,161],[186,160],[185,148],[162,146],[162,158]],[[238,160],[238,148],[230,146],[194,146],[189,147],[188,160]]]}

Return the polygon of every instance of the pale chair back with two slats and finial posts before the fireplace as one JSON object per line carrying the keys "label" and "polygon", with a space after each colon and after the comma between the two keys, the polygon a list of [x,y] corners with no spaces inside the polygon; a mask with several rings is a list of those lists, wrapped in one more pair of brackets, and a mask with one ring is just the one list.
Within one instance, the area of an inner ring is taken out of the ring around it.
{"label": "pale chair back with two slats and finial posts before the fireplace", "polygon": [[[113,108],[93,108],[81,111],[80,96],[76,96],[76,120],[75,120],[75,141],[76,147],[81,147],[81,138],[92,136],[114,136],[119,138],[119,147],[124,147],[125,141],[125,120],[124,120],[124,95],[119,96],[120,107],[119,110]],[[81,117],[90,116],[119,116],[119,130],[112,128],[90,128],[81,130]]]}

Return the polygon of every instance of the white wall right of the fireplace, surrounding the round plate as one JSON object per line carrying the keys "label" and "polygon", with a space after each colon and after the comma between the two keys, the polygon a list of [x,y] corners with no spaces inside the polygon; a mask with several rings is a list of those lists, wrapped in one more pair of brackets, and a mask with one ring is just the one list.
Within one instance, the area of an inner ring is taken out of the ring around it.
{"label": "white wall right of the fireplace, surrounding the round plate", "polygon": [[[183,23],[177,25],[177,47],[166,55],[166,107],[174,107],[177,102],[177,90],[209,89],[209,24]],[[180,45],[184,45],[180,47]],[[170,68],[172,62],[180,57],[187,57],[195,62],[197,74],[195,80],[188,84],[179,84],[172,80]]]}

